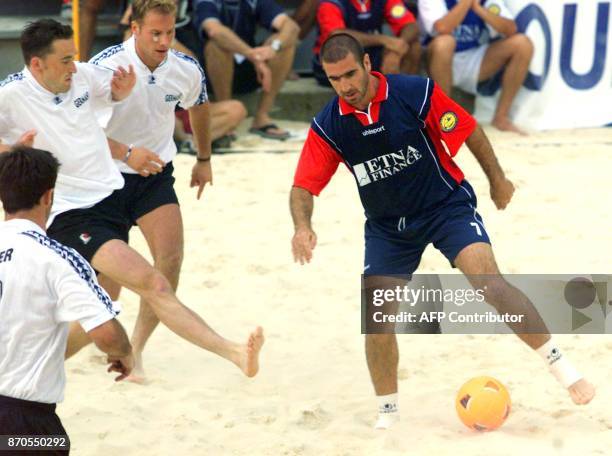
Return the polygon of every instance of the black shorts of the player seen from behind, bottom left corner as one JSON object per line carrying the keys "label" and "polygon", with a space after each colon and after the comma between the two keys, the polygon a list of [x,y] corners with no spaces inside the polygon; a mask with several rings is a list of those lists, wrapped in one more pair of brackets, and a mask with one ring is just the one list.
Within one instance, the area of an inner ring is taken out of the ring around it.
{"label": "black shorts of the player seen from behind, bottom left corner", "polygon": [[[39,436],[68,435],[55,413],[55,404],[24,401],[0,396],[0,435]],[[68,441],[69,442],[69,441]],[[67,455],[69,450],[1,452],[2,455]]]}

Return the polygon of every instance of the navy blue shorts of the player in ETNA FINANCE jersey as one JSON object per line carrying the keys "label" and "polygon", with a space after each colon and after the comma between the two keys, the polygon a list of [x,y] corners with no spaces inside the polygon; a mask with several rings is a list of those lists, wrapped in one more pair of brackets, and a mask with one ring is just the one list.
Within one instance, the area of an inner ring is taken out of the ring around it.
{"label": "navy blue shorts of the player in ETNA FINANCE jersey", "polygon": [[474,190],[463,181],[439,206],[415,218],[392,217],[365,224],[364,275],[406,275],[416,271],[425,247],[433,244],[454,267],[459,252],[489,235],[476,212]]}

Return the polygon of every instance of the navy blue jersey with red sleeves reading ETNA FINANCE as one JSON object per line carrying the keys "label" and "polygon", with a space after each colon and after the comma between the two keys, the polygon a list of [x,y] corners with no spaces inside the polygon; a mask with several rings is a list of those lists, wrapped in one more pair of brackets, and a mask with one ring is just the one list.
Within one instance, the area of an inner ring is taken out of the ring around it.
{"label": "navy blue jersey with red sleeves reading ETNA FINANCE", "polygon": [[294,185],[318,195],[343,162],[366,217],[421,214],[463,181],[451,157],[476,121],[431,79],[372,74],[379,84],[367,111],[335,97],[313,119]]}

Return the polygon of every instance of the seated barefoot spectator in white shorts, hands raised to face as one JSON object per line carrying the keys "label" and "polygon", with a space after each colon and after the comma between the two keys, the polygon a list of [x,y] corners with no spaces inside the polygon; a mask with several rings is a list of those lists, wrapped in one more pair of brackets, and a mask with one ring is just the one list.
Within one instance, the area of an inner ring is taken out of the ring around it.
{"label": "seated barefoot spectator in white shorts, hands raised to face", "polygon": [[428,71],[442,90],[450,93],[456,86],[476,94],[479,82],[503,71],[491,123],[524,134],[510,120],[509,111],[527,76],[533,45],[516,32],[504,1],[419,0],[419,19],[427,33]]}

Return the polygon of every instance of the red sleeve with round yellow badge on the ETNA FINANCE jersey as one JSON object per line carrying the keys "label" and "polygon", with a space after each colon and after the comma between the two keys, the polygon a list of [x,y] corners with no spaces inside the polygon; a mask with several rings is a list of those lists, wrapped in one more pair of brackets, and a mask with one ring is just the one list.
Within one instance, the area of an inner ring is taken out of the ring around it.
{"label": "red sleeve with round yellow badge on the ETNA FINANCE jersey", "polygon": [[441,139],[454,157],[476,128],[476,119],[434,84],[425,125],[431,139]]}

